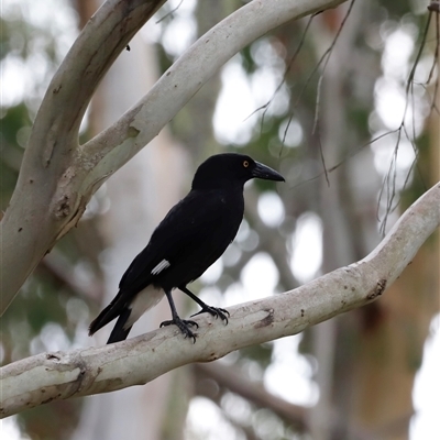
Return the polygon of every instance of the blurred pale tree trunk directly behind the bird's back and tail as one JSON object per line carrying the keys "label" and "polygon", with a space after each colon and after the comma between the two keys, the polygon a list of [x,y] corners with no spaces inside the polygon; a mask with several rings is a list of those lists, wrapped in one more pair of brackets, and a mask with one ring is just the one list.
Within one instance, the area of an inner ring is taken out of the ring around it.
{"label": "blurred pale tree trunk directly behind the bird's back and tail", "polygon": [[[153,47],[145,44],[142,35],[136,35],[130,43],[130,52],[121,54],[98,90],[99,105],[92,119],[98,132],[147,91],[157,79],[156,69]],[[183,196],[182,188],[187,186],[184,157],[164,130],[148,148],[142,150],[135,161],[129,162],[106,184],[103,191],[110,208],[101,221],[108,245],[102,307],[118,293],[123,272],[146,245],[154,228]],[[135,323],[130,338],[157,328],[168,318],[168,305],[162,301]],[[98,332],[98,345],[106,343],[112,326]],[[175,375],[176,372],[170,372],[144,387],[88,397],[74,439],[160,439]]]}

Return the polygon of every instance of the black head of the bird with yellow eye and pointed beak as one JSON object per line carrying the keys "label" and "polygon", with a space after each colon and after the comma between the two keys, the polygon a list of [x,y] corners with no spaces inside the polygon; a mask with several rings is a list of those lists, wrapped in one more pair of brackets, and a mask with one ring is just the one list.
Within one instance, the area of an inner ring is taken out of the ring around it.
{"label": "black head of the bird with yellow eye and pointed beak", "polygon": [[193,189],[223,188],[243,186],[252,178],[285,182],[275,169],[255,162],[244,154],[223,153],[207,158],[197,169]]}

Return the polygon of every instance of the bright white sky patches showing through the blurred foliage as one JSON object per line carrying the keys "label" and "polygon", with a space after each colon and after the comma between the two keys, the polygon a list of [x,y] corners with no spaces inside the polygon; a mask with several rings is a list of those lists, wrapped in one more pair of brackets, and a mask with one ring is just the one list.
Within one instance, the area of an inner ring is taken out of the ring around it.
{"label": "bright white sky patches showing through the blurred foliage", "polygon": [[[0,1],[2,15],[8,16],[12,7],[20,3],[25,7],[23,11],[29,21],[43,29],[52,29],[52,32],[57,34],[57,48],[61,54],[66,53],[72,45],[76,35],[76,24],[66,0],[46,0],[45,2],[32,0]],[[176,7],[179,0],[170,1],[170,3]],[[177,19],[174,20],[173,25],[168,26],[164,36],[165,47],[174,56],[182,54],[195,38],[195,23],[191,16],[194,6],[194,0],[183,2],[176,12]],[[54,9],[57,10],[56,20],[53,20]],[[161,24],[152,23],[147,24],[142,31],[142,35],[150,41],[157,38],[157,29],[161,26]],[[373,128],[375,124],[377,127],[385,125],[386,129],[391,130],[398,127],[405,109],[405,96],[400,80],[403,76],[407,75],[408,58],[415,44],[414,31],[410,26],[398,29],[387,34],[384,43],[384,75],[376,84],[375,113],[371,118],[371,125]],[[20,44],[20,42],[16,44]],[[264,42],[257,46],[256,51],[261,52],[262,59],[271,59],[271,62],[262,63],[252,75],[251,80],[241,68],[238,57],[229,62],[222,70],[223,88],[213,118],[216,136],[220,143],[245,144],[250,140],[256,116],[251,118],[249,116],[272,96],[278,84],[283,72],[283,61],[277,58],[276,54],[271,54],[270,45],[265,45]],[[428,61],[422,61],[422,65],[426,65],[427,69]],[[30,97],[34,78],[43,77],[46,69],[47,63],[37,51],[28,64],[23,64],[19,57],[10,55],[2,64],[0,73],[2,103],[10,106],[20,101],[23,97]],[[31,98],[34,100],[36,109],[41,98]],[[284,112],[286,105],[287,97],[282,89],[270,111]],[[421,114],[426,109],[421,101],[416,103],[416,108],[414,120],[417,132],[421,129]],[[407,118],[409,122],[413,120],[410,111]],[[378,124],[378,120],[382,124]],[[23,133],[23,136],[25,134]],[[287,135],[286,146],[296,147],[301,138],[301,128],[294,120]],[[384,142],[388,142],[388,144],[373,145],[375,165],[382,173],[387,170],[394,147],[393,140]],[[398,170],[400,175],[405,175],[414,158],[409,143],[403,142],[400,144],[400,153]],[[276,227],[282,222],[284,207],[275,191],[267,193],[261,198],[258,213],[263,221],[271,227]],[[249,238],[250,233],[249,227],[243,222],[237,240],[243,241]],[[290,262],[292,270],[300,282],[306,283],[317,276],[321,263],[321,222],[319,217],[312,212],[304,215],[298,220],[297,231],[292,241],[294,249]],[[252,243],[252,240],[249,242]],[[228,262],[233,264],[237,252],[237,249],[234,250],[232,246],[226,255],[224,264]],[[222,264],[223,262],[216,263],[204,275],[204,279],[215,283],[221,274]],[[261,273],[265,274],[263,278],[260,276]],[[271,257],[258,253],[244,268],[240,282],[232,285],[224,296],[221,297],[216,287],[205,288],[201,296],[208,302],[210,298],[215,298],[216,304],[223,306],[243,302],[255,299],[255,295],[258,295],[258,297],[273,295],[277,277],[277,270]],[[54,338],[54,334],[56,338]],[[78,338],[80,340],[82,337],[79,336]],[[286,400],[300,405],[314,405],[319,397],[319,389],[311,380],[314,374],[312,363],[298,353],[297,346],[300,338],[299,334],[273,342],[274,362],[262,378],[270,392]],[[51,338],[47,339],[51,339],[51,342],[48,342],[52,345],[51,350],[62,350],[68,346],[67,338],[62,329],[52,327]],[[224,362],[228,362],[228,359]],[[413,418],[410,440],[440,439],[440,424],[438,421],[440,408],[439,372],[440,317],[438,316],[432,320],[430,338],[425,345],[424,363],[416,378],[414,403],[417,415]],[[254,375],[255,378],[258,378],[258,374],[257,370],[252,371],[252,367],[250,369],[250,376]],[[232,395],[228,397],[224,407],[228,413],[233,414],[234,417],[241,417],[243,420],[250,414],[246,402]],[[212,427],[216,428],[212,429]],[[190,404],[188,429],[205,432],[207,440],[233,438],[229,422],[222,419],[218,408],[201,397],[193,399]],[[0,431],[2,440],[24,439],[20,436],[14,417],[2,420]]]}

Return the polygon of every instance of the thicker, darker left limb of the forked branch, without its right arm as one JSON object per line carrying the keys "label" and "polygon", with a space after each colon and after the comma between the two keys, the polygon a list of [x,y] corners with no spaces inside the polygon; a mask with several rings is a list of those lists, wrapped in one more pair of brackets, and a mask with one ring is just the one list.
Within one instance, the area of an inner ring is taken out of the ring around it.
{"label": "thicker, darker left limb of the forked branch, without its right arm", "polygon": [[[165,0],[108,0],[89,20],[54,75],[24,151],[19,179],[1,220],[3,315],[24,280],[73,228],[97,187],[81,193],[78,132],[107,70]],[[102,176],[101,176],[102,179]]]}

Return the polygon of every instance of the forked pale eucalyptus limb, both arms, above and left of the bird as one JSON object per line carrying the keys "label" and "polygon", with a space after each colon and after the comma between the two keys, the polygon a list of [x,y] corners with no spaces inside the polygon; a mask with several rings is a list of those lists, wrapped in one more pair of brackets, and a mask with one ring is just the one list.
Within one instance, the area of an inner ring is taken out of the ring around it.
{"label": "forked pale eucalyptus limb, both arms, above and left of the bird", "polygon": [[346,0],[246,3],[189,47],[119,121],[78,146],[79,124],[98,82],[164,1],[108,0],[53,78],[1,222],[1,315],[41,258],[78,222],[96,190],[155,138],[228,59],[278,25]]}

